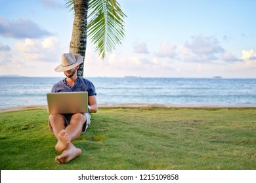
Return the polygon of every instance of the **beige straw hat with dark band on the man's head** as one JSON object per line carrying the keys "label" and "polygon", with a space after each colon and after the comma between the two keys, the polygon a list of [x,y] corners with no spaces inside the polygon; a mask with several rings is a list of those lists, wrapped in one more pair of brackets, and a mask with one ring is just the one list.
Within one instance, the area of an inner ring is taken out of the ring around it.
{"label": "beige straw hat with dark band on the man's head", "polygon": [[63,72],[63,71],[68,71],[77,65],[80,65],[83,63],[83,57],[80,56],[79,54],[62,54],[62,59],[61,59],[61,64],[58,65],[54,71],[56,72]]}

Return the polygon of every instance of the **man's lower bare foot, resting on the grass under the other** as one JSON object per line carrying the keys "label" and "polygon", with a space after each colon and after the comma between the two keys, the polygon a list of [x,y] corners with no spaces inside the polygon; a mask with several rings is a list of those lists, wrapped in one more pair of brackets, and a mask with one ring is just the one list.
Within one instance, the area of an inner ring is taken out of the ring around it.
{"label": "man's lower bare foot, resting on the grass under the other", "polygon": [[57,163],[68,163],[68,161],[71,161],[72,159],[76,158],[82,153],[81,149],[76,148],[72,143],[68,145],[68,148],[60,154],[60,156],[57,156],[55,158],[55,161]]}

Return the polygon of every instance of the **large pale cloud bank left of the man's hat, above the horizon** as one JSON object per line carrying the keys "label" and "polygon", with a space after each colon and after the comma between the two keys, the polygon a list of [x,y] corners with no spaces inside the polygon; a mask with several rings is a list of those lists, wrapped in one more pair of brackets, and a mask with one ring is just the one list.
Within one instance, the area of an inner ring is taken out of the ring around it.
{"label": "large pale cloud bank left of the man's hat, above the horizon", "polygon": [[43,40],[25,39],[18,41],[9,51],[0,51],[0,73],[22,76],[62,76],[54,72],[60,64],[61,55],[68,52],[56,37]]}

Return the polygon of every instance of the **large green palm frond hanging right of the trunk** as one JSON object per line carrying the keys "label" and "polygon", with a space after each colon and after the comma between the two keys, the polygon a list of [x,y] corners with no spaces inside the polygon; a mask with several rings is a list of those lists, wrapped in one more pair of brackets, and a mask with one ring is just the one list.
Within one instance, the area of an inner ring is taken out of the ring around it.
{"label": "large green palm frond hanging right of the trunk", "polygon": [[88,37],[96,46],[96,52],[105,58],[125,37],[125,14],[116,0],[89,0]]}

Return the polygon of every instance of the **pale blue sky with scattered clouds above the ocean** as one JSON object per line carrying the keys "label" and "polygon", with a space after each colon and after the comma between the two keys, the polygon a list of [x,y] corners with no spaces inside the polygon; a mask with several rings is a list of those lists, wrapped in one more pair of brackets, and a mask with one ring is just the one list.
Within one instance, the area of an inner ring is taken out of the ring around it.
{"label": "pale blue sky with scattered clouds above the ocean", "polygon": [[[117,0],[125,39],[84,77],[256,78],[255,0]],[[0,0],[0,75],[62,77],[74,13],[65,0]]]}

